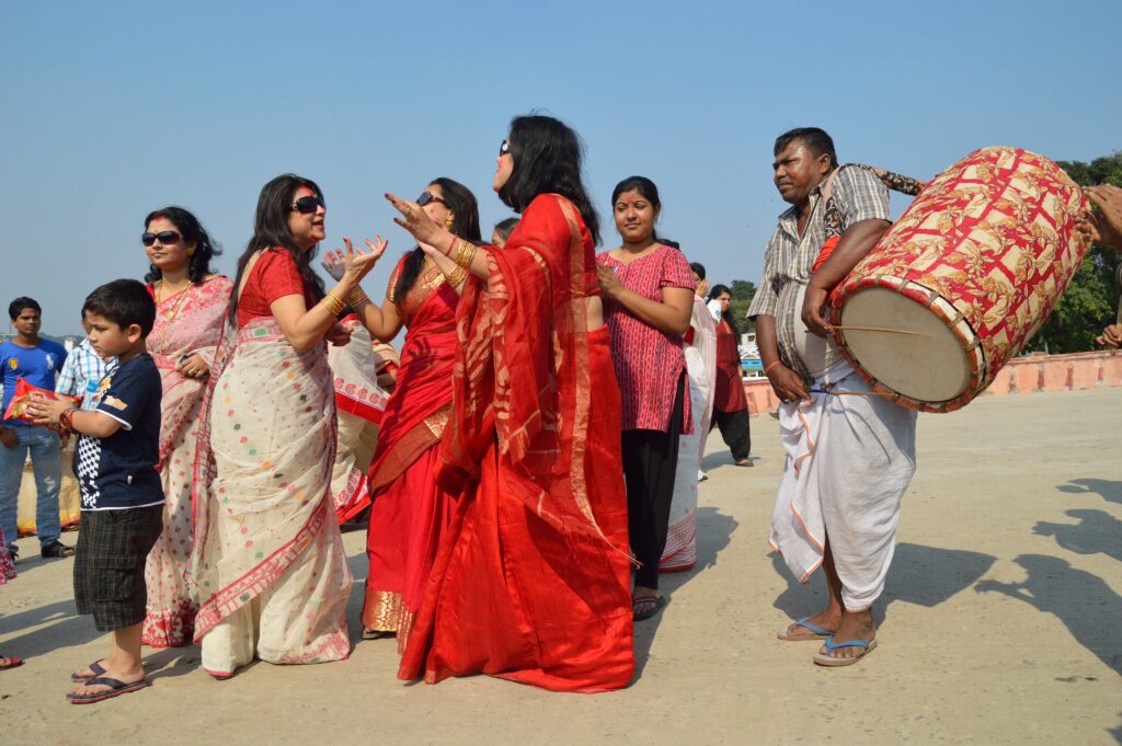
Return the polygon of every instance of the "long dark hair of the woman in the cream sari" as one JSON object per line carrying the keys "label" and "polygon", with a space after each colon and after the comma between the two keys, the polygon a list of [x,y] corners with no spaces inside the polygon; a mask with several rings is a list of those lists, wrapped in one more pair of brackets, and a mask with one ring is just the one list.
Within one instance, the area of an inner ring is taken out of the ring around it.
{"label": "long dark hair of the woman in the cream sari", "polygon": [[233,279],[234,292],[230,295],[230,323],[238,323],[238,295],[240,295],[238,288],[241,287],[246,265],[257,251],[273,248],[287,250],[300,267],[304,291],[312,296],[312,302],[319,303],[323,298],[323,280],[312,269],[312,259],[315,258],[318,247],[303,250],[288,230],[288,213],[292,212],[296,190],[301,186],[306,186],[323,197],[323,192],[315,182],[295,174],[282,174],[261,187],[261,194],[257,197],[257,215],[254,218],[254,238],[249,239],[246,250],[238,259],[238,274]]}

